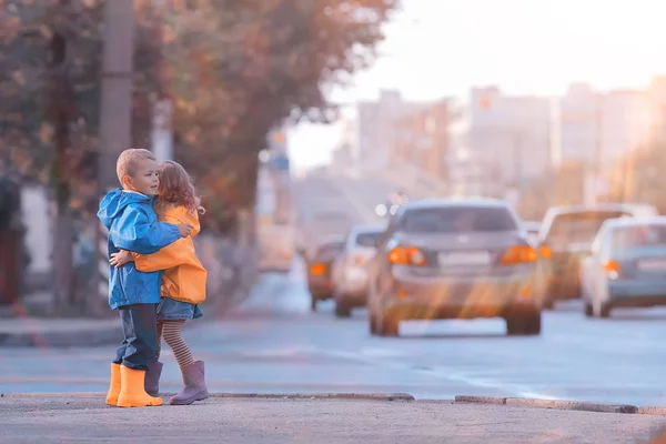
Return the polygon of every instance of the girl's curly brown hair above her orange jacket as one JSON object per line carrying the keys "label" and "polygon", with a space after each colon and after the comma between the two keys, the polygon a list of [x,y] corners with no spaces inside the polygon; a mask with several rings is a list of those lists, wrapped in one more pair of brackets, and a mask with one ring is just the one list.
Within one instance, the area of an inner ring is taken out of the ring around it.
{"label": "girl's curly brown hair above her orange jacket", "polygon": [[191,212],[205,213],[192,178],[180,163],[172,160],[160,165],[157,206],[162,210],[168,206],[185,206]]}

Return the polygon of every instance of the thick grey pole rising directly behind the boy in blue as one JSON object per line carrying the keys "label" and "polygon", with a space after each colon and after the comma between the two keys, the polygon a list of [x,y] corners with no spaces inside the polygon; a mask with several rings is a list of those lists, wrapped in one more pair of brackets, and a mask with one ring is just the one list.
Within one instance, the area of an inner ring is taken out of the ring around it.
{"label": "thick grey pole rising directly behind the boy in blue", "polygon": [[[104,10],[104,52],[102,64],[102,100],[100,112],[99,194],[119,185],[115,160],[131,148],[132,74],[134,54],[134,4],[132,0],[108,0]],[[97,223],[98,293],[109,297],[108,233]],[[91,301],[92,303],[92,301]],[[89,307],[101,304],[92,303]]]}

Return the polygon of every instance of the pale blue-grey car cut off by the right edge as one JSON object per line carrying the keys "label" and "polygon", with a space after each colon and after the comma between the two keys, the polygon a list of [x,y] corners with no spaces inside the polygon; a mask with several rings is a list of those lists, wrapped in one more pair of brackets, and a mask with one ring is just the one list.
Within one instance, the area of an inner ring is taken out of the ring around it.
{"label": "pale blue-grey car cut off by the right edge", "polygon": [[604,222],[583,261],[581,281],[586,316],[666,305],[666,218]]}

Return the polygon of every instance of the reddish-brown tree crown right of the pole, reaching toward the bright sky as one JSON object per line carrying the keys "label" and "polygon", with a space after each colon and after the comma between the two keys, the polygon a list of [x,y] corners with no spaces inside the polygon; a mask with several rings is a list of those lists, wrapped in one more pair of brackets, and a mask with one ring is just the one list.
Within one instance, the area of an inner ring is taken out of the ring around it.
{"label": "reddish-brown tree crown right of the pole, reaching toward the bright sky", "polygon": [[372,62],[395,7],[394,0],[200,1],[172,17],[165,80],[175,98],[176,155],[199,178],[206,202],[223,196],[213,218],[253,204],[258,155],[272,128],[336,118],[323,88]]}

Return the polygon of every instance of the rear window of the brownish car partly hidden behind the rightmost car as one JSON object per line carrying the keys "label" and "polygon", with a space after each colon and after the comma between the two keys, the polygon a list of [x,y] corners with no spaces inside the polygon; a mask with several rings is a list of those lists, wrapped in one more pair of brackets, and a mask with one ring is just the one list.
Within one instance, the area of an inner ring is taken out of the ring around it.
{"label": "rear window of the brownish car partly hidden behind the rightmost car", "polygon": [[630,215],[625,211],[581,211],[555,216],[546,240],[558,244],[591,243],[608,219]]}

